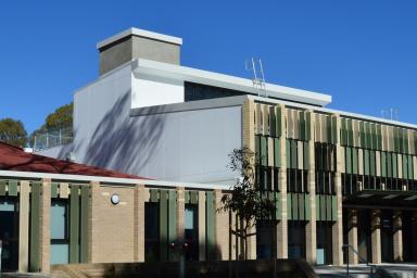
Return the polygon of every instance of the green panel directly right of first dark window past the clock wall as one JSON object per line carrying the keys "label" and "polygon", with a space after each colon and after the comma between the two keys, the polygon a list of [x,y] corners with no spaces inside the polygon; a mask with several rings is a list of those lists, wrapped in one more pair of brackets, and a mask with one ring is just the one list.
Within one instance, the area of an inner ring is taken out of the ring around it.
{"label": "green panel directly right of first dark window past the clock wall", "polygon": [[160,190],[160,260],[168,260],[168,190]]}

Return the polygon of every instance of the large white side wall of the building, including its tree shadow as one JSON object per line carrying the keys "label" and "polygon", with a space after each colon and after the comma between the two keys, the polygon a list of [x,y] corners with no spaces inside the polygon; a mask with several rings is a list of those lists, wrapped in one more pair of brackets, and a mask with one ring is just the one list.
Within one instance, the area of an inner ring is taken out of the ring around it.
{"label": "large white side wall of the building, including its tree shadow", "polygon": [[182,98],[182,84],[138,80],[130,66],[77,91],[76,162],[161,180],[232,182],[236,174],[227,165],[228,154],[242,146],[240,105],[173,113],[160,113],[163,106],[155,106],[151,115],[129,116],[132,105]]}

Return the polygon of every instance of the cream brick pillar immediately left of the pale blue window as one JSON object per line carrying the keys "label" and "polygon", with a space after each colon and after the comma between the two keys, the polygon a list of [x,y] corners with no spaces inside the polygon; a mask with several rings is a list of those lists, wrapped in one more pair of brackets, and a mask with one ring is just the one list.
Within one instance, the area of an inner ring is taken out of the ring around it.
{"label": "cream brick pillar immediately left of the pale blue window", "polygon": [[40,198],[40,271],[51,269],[51,179],[42,179]]}

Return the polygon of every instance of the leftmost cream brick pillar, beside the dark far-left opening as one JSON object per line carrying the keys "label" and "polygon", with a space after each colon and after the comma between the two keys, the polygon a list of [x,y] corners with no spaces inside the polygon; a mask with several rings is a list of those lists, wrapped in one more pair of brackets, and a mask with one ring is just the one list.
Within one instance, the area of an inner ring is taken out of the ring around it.
{"label": "leftmost cream brick pillar, beside the dark far-left opening", "polygon": [[29,181],[21,181],[18,193],[18,271],[27,273],[29,266]]}

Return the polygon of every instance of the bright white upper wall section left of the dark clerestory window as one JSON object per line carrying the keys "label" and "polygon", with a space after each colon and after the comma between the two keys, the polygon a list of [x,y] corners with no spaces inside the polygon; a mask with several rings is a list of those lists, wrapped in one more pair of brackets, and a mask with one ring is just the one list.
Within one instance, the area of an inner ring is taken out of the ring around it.
{"label": "bright white upper wall section left of the dark clerestory window", "polygon": [[131,108],[184,102],[184,81],[139,75],[132,79]]}

